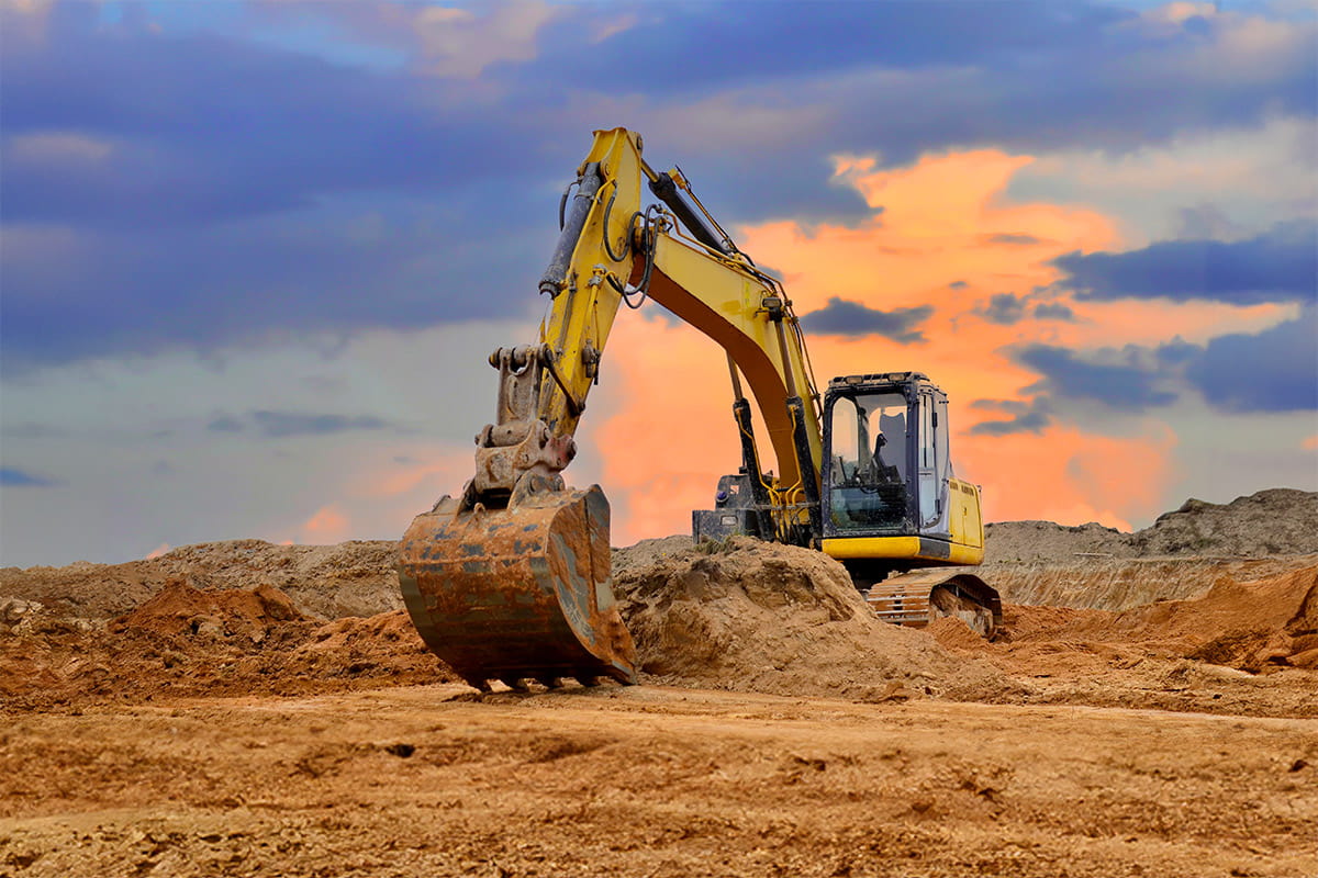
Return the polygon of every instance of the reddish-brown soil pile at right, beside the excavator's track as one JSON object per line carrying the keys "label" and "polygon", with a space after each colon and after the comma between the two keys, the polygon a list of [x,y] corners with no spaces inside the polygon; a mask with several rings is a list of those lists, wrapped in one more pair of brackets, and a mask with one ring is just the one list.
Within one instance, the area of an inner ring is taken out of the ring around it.
{"label": "reddish-brown soil pile at right, beside the excavator's track", "polygon": [[1006,604],[994,642],[954,619],[927,631],[995,665],[1031,703],[1318,716],[1318,559],[1122,612]]}

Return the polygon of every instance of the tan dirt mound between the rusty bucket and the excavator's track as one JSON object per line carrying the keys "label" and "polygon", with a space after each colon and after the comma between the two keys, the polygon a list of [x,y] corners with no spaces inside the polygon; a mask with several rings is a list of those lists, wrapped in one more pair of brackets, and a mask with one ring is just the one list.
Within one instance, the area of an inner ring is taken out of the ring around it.
{"label": "tan dirt mound between the rusty bucket and the excavator's track", "polygon": [[734,537],[621,550],[614,591],[655,682],[883,699],[967,692],[995,675],[925,633],[878,621],[840,563]]}

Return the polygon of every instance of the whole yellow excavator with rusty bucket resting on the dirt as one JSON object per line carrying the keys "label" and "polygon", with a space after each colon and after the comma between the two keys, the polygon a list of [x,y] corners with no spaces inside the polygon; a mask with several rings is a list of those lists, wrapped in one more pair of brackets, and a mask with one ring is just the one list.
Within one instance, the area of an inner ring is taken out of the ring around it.
{"label": "whole yellow excavator with rusty bucket resting on the dirt", "polygon": [[[714,508],[692,513],[697,541],[818,549],[879,617],[919,627],[950,615],[991,637],[1002,602],[963,569],[983,559],[983,525],[979,488],[952,470],[946,394],[924,374],[890,371],[834,378],[821,396],[783,284],[680,168],[655,171],[642,147],[635,132],[594,132],[559,203],[539,338],[490,354],[497,415],[476,437],[476,473],[399,544],[399,587],[427,646],[481,691],[637,682],[610,586],[609,503],[561,473],[618,308],[646,299],[728,354],[742,459],[718,480]],[[642,184],[655,203],[642,204]],[[762,465],[746,388],[776,473]]]}

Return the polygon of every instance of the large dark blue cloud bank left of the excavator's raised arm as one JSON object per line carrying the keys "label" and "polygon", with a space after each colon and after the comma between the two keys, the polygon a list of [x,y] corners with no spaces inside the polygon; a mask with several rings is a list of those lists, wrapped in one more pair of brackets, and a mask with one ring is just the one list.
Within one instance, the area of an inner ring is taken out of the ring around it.
{"label": "large dark blue cloud bank left of the excavator's raised arm", "polygon": [[7,375],[531,304],[544,180],[588,129],[546,138],[515,105],[249,36],[46,30],[0,28]]}

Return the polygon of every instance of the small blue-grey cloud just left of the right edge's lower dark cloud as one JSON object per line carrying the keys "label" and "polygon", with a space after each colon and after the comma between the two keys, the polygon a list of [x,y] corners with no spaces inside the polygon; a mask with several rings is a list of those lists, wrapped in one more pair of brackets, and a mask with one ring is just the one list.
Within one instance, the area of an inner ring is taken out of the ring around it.
{"label": "small blue-grey cloud just left of the right edge's lower dark cloud", "polygon": [[1041,374],[1044,387],[1062,400],[1093,400],[1126,412],[1176,401],[1176,394],[1159,388],[1159,371],[1137,362],[1133,350],[1118,354],[1116,362],[1087,362],[1065,348],[1031,344],[1012,358]]}

